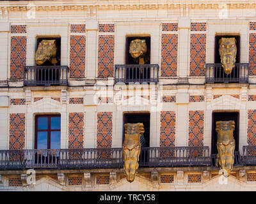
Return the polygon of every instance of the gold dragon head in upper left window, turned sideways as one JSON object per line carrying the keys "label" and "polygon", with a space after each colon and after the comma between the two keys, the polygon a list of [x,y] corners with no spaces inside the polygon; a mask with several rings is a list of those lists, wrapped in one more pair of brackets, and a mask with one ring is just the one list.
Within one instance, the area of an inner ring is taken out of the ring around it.
{"label": "gold dragon head in upper left window, turned sideways", "polygon": [[42,40],[38,44],[36,50],[36,64],[41,65],[46,61],[50,61],[52,64],[56,64],[59,59],[57,59],[57,46],[56,40]]}

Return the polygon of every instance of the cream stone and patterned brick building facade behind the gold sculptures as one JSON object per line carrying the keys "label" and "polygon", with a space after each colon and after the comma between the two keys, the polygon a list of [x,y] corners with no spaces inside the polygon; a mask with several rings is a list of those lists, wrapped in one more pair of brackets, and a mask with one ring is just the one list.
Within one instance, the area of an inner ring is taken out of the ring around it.
{"label": "cream stone and patterned brick building facade behind the gold sculptures", "polygon": [[[256,190],[255,1],[0,1],[0,11],[1,191]],[[230,75],[221,38],[236,39]],[[136,39],[143,64],[129,54]],[[235,122],[227,179],[215,166],[219,120]],[[129,183],[124,124],[136,122],[145,141]]]}

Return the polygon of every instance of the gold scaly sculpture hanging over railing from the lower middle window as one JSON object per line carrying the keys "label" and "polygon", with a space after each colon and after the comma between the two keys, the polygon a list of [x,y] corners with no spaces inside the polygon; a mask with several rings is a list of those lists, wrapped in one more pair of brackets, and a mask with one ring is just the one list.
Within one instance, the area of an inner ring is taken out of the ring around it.
{"label": "gold scaly sculpture hanging over railing from the lower middle window", "polygon": [[144,133],[143,123],[127,123],[124,125],[125,136],[123,143],[124,170],[126,179],[132,182],[139,168],[139,156],[141,150],[140,137]]}

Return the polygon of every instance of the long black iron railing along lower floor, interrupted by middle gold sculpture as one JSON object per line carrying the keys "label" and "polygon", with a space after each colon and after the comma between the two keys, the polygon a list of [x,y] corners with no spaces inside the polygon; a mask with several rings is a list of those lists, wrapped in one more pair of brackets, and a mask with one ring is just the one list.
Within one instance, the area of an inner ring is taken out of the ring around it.
{"label": "long black iron railing along lower floor, interrupted by middle gold sculpture", "polygon": [[[0,170],[123,168],[122,148],[0,150]],[[209,147],[143,147],[140,167],[209,166]]]}

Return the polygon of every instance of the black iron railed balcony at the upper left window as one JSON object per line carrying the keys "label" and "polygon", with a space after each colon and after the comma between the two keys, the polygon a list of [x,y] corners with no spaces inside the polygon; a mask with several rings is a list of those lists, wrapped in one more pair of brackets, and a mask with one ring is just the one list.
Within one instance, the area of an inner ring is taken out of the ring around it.
{"label": "black iron railed balcony at the upper left window", "polygon": [[26,66],[24,85],[67,85],[68,66]]}

